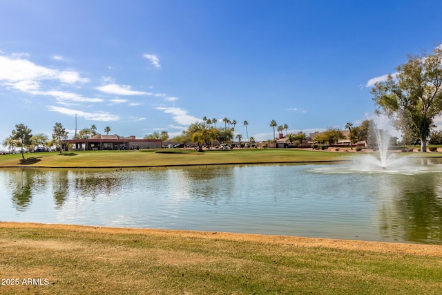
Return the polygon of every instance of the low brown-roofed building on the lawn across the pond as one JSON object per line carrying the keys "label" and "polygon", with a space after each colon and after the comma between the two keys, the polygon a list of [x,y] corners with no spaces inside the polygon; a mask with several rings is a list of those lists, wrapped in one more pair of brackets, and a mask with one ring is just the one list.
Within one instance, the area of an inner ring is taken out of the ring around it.
{"label": "low brown-roofed building on the lawn across the pond", "polygon": [[76,150],[102,151],[119,149],[161,149],[162,140],[140,140],[135,136],[122,137],[119,135],[97,134],[87,139],[76,138],[67,140]]}

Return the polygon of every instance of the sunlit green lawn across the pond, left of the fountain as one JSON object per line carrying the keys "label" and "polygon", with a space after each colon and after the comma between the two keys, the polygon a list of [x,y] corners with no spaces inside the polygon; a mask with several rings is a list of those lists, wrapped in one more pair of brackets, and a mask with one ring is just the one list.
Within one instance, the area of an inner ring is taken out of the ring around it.
{"label": "sunlit green lawn across the pond, left of the fountain", "polygon": [[73,151],[0,155],[0,166],[115,167],[240,164],[271,162],[318,162],[348,159],[349,153],[295,149],[233,149],[205,151],[146,149],[142,151]]}

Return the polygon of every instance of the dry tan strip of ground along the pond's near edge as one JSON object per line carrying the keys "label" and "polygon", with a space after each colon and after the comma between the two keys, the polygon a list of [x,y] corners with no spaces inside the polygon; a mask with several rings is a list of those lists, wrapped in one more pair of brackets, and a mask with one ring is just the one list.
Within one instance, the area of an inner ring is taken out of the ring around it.
{"label": "dry tan strip of ground along the pond's near edge", "polygon": [[339,249],[345,251],[372,251],[379,254],[407,254],[442,257],[442,245],[426,245],[405,242],[375,242],[365,240],[341,240],[332,238],[307,238],[265,234],[239,234],[231,232],[189,231],[178,229],[149,229],[134,227],[102,227],[90,225],[65,225],[59,223],[0,221],[5,229],[56,229],[61,231],[93,232],[96,234],[174,236],[177,238],[202,238],[234,242],[258,242],[271,245]]}

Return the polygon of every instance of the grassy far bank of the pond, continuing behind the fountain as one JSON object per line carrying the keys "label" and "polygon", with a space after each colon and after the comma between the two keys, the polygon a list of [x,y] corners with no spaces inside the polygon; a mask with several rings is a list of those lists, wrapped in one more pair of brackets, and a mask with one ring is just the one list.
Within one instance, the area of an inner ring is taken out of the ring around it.
{"label": "grassy far bank of the pond, continuing behind the fountain", "polygon": [[[351,162],[355,157],[376,153],[374,151],[316,151],[299,149],[262,149],[247,150],[233,149],[234,153],[113,153],[101,151],[97,153],[79,152],[79,158],[57,158],[65,154],[38,154],[30,156],[26,161],[21,158],[1,160],[0,169],[142,169],[142,168],[168,168],[183,166],[220,166],[220,165],[260,165],[260,164],[320,164]],[[392,153],[396,153],[395,151]],[[441,153],[416,155],[412,158],[442,158]],[[46,155],[49,157],[46,158]],[[70,155],[70,154],[68,154]],[[195,155],[198,155],[195,157]],[[9,155],[5,155],[9,156]],[[202,157],[200,157],[202,156]],[[410,156],[410,155],[405,155]],[[1,157],[1,156],[0,156]],[[110,158],[106,158],[110,157]],[[136,164],[131,164],[136,163]]]}

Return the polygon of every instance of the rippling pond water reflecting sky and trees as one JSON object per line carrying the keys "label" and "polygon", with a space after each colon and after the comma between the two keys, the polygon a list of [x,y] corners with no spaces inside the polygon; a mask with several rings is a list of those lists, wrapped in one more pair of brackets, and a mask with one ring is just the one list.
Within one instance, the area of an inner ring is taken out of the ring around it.
{"label": "rippling pond water reflecting sky and trees", "polygon": [[[442,245],[442,169],[1,169],[0,220]],[[419,164],[421,165],[421,164]]]}

